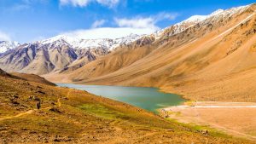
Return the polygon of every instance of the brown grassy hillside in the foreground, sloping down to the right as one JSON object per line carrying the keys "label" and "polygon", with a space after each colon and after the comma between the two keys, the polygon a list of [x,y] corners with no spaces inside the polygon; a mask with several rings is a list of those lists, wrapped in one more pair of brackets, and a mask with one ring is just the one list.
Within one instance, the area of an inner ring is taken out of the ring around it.
{"label": "brown grassy hillside in the foreground, sloping down to the right", "polygon": [[[253,143],[85,91],[0,76],[0,143]],[[41,101],[38,110],[36,104]]]}

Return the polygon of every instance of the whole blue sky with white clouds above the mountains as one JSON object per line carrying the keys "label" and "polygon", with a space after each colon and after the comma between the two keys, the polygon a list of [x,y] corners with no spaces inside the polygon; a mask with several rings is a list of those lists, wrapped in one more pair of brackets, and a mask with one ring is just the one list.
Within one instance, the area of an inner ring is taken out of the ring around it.
{"label": "whole blue sky with white clouds above the mountains", "polygon": [[31,42],[58,34],[84,38],[151,33],[194,14],[255,0],[0,0],[0,40]]}

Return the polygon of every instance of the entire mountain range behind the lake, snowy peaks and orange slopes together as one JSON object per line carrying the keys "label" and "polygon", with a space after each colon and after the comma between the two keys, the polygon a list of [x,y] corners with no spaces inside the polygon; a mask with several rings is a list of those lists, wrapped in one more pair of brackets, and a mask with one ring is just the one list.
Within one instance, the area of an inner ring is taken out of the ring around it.
{"label": "entire mountain range behind the lake, snowy peaks and orange slopes together", "polygon": [[1,46],[0,67],[58,83],[159,87],[196,101],[256,101],[255,9],[218,9],[150,35],[61,35]]}

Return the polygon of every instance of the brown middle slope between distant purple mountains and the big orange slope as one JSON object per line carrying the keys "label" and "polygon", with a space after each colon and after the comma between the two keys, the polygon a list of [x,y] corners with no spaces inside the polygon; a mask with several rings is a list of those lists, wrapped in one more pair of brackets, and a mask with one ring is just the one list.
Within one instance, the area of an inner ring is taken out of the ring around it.
{"label": "brown middle slope between distant purple mountains and the big orange slope", "polygon": [[67,69],[61,73],[49,73],[44,78],[53,82],[79,82],[80,80],[96,78],[115,72],[133,62],[142,59],[154,50],[154,37],[146,36],[127,46],[121,46],[112,53],[99,57],[97,60],[82,66],[76,71]]}

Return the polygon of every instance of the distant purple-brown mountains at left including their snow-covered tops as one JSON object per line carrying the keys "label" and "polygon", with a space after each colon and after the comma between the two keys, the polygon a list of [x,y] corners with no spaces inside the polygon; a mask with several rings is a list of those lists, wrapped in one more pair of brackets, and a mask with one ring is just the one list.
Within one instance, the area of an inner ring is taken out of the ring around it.
{"label": "distant purple-brown mountains at left including their snow-covered tops", "polygon": [[[19,44],[0,42],[0,66],[7,72],[46,74],[73,71],[107,55],[119,46],[136,41],[139,35],[116,39],[80,39],[59,35],[42,41]],[[8,50],[9,49],[9,50]]]}

